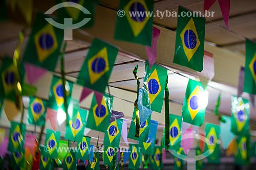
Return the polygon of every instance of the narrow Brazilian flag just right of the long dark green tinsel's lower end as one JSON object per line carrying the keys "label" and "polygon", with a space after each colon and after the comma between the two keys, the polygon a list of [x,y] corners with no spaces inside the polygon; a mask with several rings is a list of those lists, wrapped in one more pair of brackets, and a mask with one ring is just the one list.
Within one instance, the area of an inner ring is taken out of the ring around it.
{"label": "narrow Brazilian flag just right of the long dark green tinsel's lower end", "polygon": [[170,128],[169,128],[169,149],[178,151],[181,142],[181,116],[169,114]]}

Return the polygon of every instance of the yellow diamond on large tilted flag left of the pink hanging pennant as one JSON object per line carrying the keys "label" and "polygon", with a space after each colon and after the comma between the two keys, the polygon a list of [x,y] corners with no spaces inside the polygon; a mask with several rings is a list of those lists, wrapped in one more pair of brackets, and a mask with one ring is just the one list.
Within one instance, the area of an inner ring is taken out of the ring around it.
{"label": "yellow diamond on large tilted flag left of the pink hanging pennant", "polygon": [[88,60],[90,83],[94,84],[105,72],[109,71],[109,59],[107,48],[104,47]]}

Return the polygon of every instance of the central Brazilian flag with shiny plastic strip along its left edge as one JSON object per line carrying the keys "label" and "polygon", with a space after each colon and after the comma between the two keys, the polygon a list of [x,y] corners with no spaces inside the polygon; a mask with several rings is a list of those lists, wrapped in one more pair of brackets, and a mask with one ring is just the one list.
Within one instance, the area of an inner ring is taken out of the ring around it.
{"label": "central Brazilian flag with shiny plastic strip along its left edge", "polygon": [[163,107],[164,89],[167,78],[167,70],[146,61],[144,84],[143,84],[143,106],[152,111],[161,113]]}

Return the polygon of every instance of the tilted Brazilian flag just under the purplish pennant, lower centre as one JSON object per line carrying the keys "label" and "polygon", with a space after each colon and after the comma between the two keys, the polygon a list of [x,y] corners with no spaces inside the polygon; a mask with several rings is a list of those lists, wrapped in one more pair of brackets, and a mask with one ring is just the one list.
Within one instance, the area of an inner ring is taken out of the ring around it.
{"label": "tilted Brazilian flag just under the purplish pennant, lower centre", "polygon": [[114,147],[118,148],[121,138],[123,119],[119,118],[114,122],[109,124],[108,129],[105,131],[104,135],[104,147]]}

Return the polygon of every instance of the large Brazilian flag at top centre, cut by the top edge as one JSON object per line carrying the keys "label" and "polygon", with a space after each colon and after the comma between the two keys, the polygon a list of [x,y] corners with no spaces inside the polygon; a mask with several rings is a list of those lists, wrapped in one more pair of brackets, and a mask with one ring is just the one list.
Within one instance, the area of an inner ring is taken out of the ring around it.
{"label": "large Brazilian flag at top centre, cut by the top edge", "polygon": [[115,39],[151,46],[154,0],[122,0],[117,16]]}

